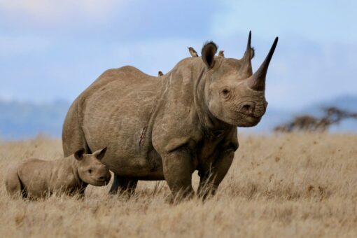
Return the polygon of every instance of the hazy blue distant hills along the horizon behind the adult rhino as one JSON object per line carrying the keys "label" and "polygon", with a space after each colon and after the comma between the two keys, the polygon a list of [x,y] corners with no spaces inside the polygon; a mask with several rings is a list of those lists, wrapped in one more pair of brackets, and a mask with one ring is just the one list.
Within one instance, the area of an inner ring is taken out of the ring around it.
{"label": "hazy blue distant hills along the horizon behind the adult rhino", "polygon": [[[37,134],[60,137],[64,117],[70,103],[55,101],[48,104],[31,104],[0,101],[0,138],[26,139]],[[321,116],[321,109],[326,106],[337,106],[349,111],[357,111],[357,96],[343,96],[325,102],[313,104],[299,111],[274,109],[268,106],[267,113],[256,127],[239,128],[245,133],[269,133],[276,125],[288,122],[297,115],[309,114]],[[344,120],[333,126],[331,132],[357,133],[357,120]]]}

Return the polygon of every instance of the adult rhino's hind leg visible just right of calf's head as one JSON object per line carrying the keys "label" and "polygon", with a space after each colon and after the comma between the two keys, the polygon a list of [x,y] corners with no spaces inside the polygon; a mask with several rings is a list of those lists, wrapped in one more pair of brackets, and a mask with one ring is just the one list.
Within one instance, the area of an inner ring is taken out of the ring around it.
{"label": "adult rhino's hind leg visible just right of calf's head", "polygon": [[127,177],[121,177],[114,174],[113,184],[111,185],[111,190],[109,193],[112,195],[127,195],[130,197],[134,195],[135,188],[137,188],[137,179],[131,179]]}

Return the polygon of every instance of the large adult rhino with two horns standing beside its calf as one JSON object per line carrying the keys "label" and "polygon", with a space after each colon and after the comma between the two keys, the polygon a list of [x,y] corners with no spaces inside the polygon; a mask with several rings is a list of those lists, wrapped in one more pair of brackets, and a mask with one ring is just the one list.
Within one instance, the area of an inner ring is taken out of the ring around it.
{"label": "large adult rhino with two horns standing beside its calf", "polygon": [[[114,172],[111,193],[134,192],[138,180],[166,180],[174,197],[213,195],[238,148],[237,127],[257,125],[265,113],[265,75],[276,47],[251,69],[251,34],[242,59],[181,60],[164,76],[124,66],[105,71],[73,102],[63,127],[64,155],[108,146],[103,162]],[[179,195],[179,196],[178,196]]]}

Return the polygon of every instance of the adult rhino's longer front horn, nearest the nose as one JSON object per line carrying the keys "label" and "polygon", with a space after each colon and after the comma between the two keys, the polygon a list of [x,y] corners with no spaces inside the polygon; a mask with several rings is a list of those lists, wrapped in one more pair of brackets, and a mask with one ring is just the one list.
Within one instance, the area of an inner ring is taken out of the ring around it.
{"label": "adult rhino's longer front horn, nearest the nose", "polygon": [[253,90],[262,91],[265,90],[265,76],[267,76],[267,69],[269,67],[270,59],[274,54],[274,50],[276,48],[276,44],[278,43],[278,37],[275,38],[272,48],[270,48],[267,57],[260,65],[259,69],[248,78],[248,86]]}

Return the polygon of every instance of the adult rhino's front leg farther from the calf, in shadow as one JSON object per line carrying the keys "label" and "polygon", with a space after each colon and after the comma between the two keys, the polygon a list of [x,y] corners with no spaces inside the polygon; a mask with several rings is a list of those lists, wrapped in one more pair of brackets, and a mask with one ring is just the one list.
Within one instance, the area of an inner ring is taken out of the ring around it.
{"label": "adult rhino's front leg farther from the calf, in shadow", "polygon": [[232,148],[224,150],[218,155],[213,165],[199,170],[200,185],[198,186],[197,194],[203,200],[216,194],[218,186],[223,181],[228,169],[230,169],[234,157],[235,151]]}

